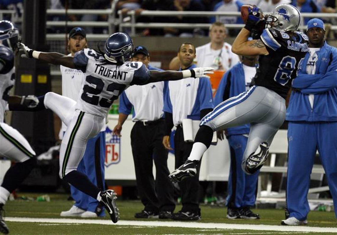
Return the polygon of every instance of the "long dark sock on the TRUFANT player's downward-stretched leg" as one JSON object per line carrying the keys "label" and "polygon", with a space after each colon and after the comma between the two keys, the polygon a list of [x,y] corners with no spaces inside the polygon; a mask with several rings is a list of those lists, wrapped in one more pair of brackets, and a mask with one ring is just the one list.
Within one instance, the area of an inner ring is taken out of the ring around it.
{"label": "long dark sock on the TRUFANT player's downward-stretched leg", "polygon": [[63,177],[63,180],[95,199],[97,199],[97,195],[101,191],[97,186],[91,183],[85,174],[79,171],[69,172]]}

